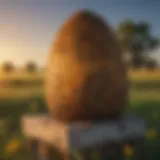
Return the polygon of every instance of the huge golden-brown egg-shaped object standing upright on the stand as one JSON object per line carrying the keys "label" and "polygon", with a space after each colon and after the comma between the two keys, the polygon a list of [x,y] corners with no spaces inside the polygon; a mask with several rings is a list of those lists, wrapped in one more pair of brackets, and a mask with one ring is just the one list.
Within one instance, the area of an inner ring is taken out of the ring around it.
{"label": "huge golden-brown egg-shaped object standing upright on the stand", "polygon": [[127,74],[114,31],[103,17],[74,12],[62,25],[49,56],[46,101],[65,123],[116,119],[127,99]]}

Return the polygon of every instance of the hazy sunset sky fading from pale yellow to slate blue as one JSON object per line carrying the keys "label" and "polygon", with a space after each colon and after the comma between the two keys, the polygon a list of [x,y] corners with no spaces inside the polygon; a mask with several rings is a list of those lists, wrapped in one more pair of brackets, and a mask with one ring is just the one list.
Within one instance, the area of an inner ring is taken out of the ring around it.
{"label": "hazy sunset sky fading from pale yellow to slate blue", "polygon": [[[45,65],[56,31],[82,8],[103,15],[114,28],[124,19],[146,20],[160,38],[159,0],[0,0],[0,64]],[[160,61],[160,49],[153,56]]]}

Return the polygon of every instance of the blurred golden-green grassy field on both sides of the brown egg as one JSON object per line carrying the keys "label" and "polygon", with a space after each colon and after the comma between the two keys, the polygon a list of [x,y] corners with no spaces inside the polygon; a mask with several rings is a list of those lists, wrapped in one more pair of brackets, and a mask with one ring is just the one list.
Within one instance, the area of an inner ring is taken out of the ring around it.
{"label": "blurred golden-green grassy field on both sides of the brown egg", "polygon": [[[145,160],[159,160],[160,71],[129,72],[129,79],[131,87],[127,112],[147,120]],[[0,85],[0,160],[27,160],[20,117],[25,113],[46,111],[43,76],[1,75],[2,81],[8,83]]]}

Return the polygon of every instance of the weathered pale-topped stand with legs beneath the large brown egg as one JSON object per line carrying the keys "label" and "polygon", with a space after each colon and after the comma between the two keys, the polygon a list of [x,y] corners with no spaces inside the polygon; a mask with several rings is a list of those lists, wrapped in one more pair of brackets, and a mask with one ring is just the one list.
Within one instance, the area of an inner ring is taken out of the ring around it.
{"label": "weathered pale-topped stand with legs beneath the large brown egg", "polygon": [[[22,118],[22,131],[30,141],[30,153],[34,160],[124,159],[125,145],[134,147],[136,153],[143,151],[145,130],[144,120],[132,116],[90,125],[62,124],[46,115],[26,115]],[[136,153],[129,156],[141,159]]]}

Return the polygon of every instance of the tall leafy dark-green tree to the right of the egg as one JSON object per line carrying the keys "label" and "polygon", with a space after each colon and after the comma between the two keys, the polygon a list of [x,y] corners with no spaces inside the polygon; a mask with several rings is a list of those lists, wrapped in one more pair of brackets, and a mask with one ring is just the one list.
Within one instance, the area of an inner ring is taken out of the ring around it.
{"label": "tall leafy dark-green tree to the right of the egg", "polygon": [[132,54],[134,68],[144,66],[146,55],[159,44],[158,39],[151,34],[151,25],[144,21],[123,21],[118,27],[118,35],[123,50]]}

